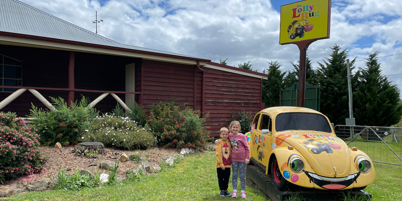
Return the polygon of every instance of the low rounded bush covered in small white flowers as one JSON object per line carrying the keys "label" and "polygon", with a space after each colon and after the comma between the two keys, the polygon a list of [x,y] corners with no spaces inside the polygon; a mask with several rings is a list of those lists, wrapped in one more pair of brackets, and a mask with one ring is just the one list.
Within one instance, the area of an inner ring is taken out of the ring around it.
{"label": "low rounded bush covered in small white flowers", "polygon": [[137,126],[128,117],[104,115],[96,117],[79,138],[80,142],[102,142],[105,147],[118,149],[148,149],[155,145],[154,134]]}

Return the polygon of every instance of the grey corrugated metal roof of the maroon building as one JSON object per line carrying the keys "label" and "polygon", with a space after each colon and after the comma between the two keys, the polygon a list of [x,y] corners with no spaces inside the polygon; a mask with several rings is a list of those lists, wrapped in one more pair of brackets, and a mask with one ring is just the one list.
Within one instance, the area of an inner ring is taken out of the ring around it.
{"label": "grey corrugated metal roof of the maroon building", "polygon": [[149,48],[124,45],[17,0],[0,0],[0,31],[196,58]]}

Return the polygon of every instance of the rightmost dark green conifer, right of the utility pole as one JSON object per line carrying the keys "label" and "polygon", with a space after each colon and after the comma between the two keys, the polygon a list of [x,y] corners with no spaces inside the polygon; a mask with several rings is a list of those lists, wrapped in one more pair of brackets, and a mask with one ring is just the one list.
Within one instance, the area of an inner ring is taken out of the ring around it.
{"label": "rightmost dark green conifer, right of the utility pole", "polygon": [[361,69],[359,87],[353,96],[356,125],[387,127],[401,119],[400,91],[382,75],[378,53],[369,54],[366,67]]}

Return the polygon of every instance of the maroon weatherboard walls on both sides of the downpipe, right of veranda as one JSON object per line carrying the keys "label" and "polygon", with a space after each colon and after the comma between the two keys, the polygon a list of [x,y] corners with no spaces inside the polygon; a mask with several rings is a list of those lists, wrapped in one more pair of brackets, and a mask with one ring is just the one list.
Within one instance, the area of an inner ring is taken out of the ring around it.
{"label": "maroon weatherboard walls on both sides of the downpipe, right of veranda", "polygon": [[[231,113],[244,110],[254,115],[261,109],[261,78],[202,67],[205,70],[204,112],[211,136],[219,136],[230,124]],[[136,72],[137,73],[137,72]],[[203,73],[194,65],[143,60],[137,73],[136,90],[142,89],[141,104],[178,100],[202,110]]]}

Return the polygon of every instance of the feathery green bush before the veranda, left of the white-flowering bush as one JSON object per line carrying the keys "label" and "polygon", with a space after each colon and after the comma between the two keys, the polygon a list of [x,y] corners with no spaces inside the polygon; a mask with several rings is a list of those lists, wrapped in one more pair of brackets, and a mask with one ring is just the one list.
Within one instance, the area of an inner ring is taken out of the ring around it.
{"label": "feathery green bush before the veranda, left of the white-flowering bush", "polygon": [[81,133],[89,127],[92,118],[99,112],[88,108],[89,101],[82,96],[79,103],[72,103],[70,108],[64,99],[50,97],[56,111],[44,111],[32,104],[30,116],[34,118],[32,125],[41,135],[40,143],[53,146],[56,142],[62,145],[76,143]]}

